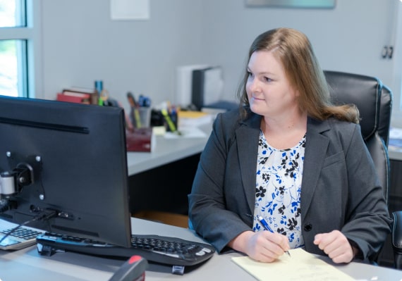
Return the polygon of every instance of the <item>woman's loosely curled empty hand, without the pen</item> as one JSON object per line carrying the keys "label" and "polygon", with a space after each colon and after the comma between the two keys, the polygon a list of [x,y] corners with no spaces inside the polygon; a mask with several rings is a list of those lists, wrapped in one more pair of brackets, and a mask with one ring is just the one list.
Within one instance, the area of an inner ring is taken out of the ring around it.
{"label": "woman's loosely curled empty hand, without the pen", "polygon": [[314,244],[322,249],[334,263],[350,263],[355,251],[348,239],[339,230],[315,235]]}

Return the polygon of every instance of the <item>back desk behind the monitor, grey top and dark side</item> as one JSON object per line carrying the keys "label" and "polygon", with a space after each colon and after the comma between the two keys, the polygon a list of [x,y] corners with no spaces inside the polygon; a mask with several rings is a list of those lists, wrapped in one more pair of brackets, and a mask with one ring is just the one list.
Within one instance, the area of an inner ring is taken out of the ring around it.
{"label": "back desk behind the monitor, grey top and dark side", "polygon": [[128,152],[130,213],[163,211],[187,215],[200,154],[212,124],[202,125],[205,137],[156,137],[152,152]]}

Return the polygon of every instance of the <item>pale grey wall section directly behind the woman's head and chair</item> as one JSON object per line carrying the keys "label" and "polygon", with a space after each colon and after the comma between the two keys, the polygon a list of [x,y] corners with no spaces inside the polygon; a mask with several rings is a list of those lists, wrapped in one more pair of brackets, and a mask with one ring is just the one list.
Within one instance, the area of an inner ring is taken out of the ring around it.
{"label": "pale grey wall section directly behind the woman's head and chair", "polygon": [[[393,60],[381,57],[389,44],[396,0],[338,0],[334,9],[247,8],[243,0],[207,0],[207,60],[225,66],[237,80],[252,39],[274,27],[293,27],[310,38],[322,68],[375,75],[391,84]],[[213,8],[212,8],[213,7]],[[228,92],[232,92],[228,85]]]}

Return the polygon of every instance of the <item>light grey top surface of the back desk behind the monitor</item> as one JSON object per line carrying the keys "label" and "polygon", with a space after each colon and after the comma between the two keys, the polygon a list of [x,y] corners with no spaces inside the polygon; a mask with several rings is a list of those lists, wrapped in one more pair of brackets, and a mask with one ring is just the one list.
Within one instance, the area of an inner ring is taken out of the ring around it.
{"label": "light grey top surface of the back desk behind the monitor", "polygon": [[202,152],[211,133],[212,125],[203,125],[200,129],[205,132],[205,137],[168,139],[157,136],[152,152],[128,152],[128,175],[135,175]]}

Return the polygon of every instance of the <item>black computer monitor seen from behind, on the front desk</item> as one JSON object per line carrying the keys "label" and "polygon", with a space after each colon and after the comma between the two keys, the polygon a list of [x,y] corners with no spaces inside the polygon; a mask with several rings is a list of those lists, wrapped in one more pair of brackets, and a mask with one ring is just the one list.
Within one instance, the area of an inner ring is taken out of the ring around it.
{"label": "black computer monitor seen from behind, on the front desk", "polygon": [[130,246],[122,108],[0,96],[0,218]]}

